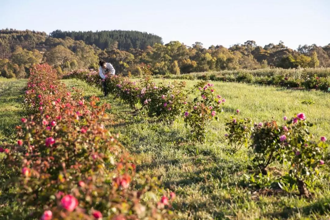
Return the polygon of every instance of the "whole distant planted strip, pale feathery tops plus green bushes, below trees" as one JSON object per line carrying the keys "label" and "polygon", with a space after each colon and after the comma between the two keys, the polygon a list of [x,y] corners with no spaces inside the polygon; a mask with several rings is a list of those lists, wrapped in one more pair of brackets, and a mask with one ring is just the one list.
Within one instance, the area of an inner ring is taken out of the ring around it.
{"label": "whole distant planted strip, pale feathery tops plus green bushes, below trees", "polygon": [[303,87],[305,89],[318,89],[323,91],[327,91],[330,87],[330,68],[234,70],[166,75],[162,77],[167,79],[245,82],[289,88]]}

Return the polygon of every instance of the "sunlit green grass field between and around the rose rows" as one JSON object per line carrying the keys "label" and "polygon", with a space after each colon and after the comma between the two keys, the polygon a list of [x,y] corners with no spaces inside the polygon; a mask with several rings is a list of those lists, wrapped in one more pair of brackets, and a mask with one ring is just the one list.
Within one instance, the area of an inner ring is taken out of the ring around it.
{"label": "sunlit green grass field between and around the rose rows", "polygon": [[[156,176],[164,188],[176,192],[179,219],[329,219],[328,171],[322,180],[313,183],[312,199],[300,198],[296,188],[284,192],[276,183],[280,174],[286,172],[281,164],[272,166],[270,176],[259,178],[259,182],[247,180],[252,172],[251,150],[231,155],[224,142],[224,123],[236,114],[236,109],[241,111],[237,117],[249,117],[256,122],[271,119],[281,122],[284,115],[291,117],[304,112],[316,124],[312,129],[315,138],[329,137],[329,93],[215,82],[215,89],[226,104],[219,121],[210,126],[208,140],[200,144],[187,140],[189,130],[182,119],[167,124],[142,113],[135,116],[128,105],[111,95],[103,98],[95,87],[79,80],[63,81],[68,87],[83,88],[86,97],[96,95],[111,103],[114,122],[107,125],[108,129],[119,134],[119,141],[137,159],[140,174]],[[194,83],[187,81],[188,86]],[[24,85],[24,80],[0,81],[0,141],[14,141],[15,125],[23,114]],[[12,200],[4,199],[5,194],[0,195],[0,219],[8,219],[5,211],[17,208]]]}

